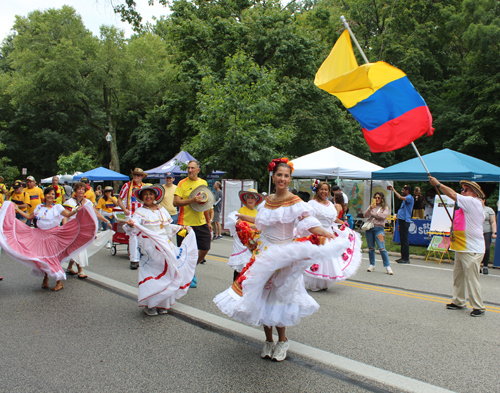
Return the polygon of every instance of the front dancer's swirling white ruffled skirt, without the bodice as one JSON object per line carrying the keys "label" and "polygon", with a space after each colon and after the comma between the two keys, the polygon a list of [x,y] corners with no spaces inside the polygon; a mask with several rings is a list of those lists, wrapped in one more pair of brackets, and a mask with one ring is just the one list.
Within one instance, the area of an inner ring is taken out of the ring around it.
{"label": "front dancer's swirling white ruffled skirt, without the bodice", "polygon": [[236,280],[214,302],[224,314],[254,326],[296,325],[319,308],[305,290],[304,269],[315,260],[342,254],[350,246],[349,239],[339,237],[322,246],[310,242],[273,244],[265,237],[261,241],[241,287]]}

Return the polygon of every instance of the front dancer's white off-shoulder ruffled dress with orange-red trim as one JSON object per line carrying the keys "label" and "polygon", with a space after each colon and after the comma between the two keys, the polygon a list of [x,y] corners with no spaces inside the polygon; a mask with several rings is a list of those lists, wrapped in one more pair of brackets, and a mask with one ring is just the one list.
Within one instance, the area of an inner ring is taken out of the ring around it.
{"label": "front dancer's white off-shoulder ruffled dress with orange-red trim", "polygon": [[261,204],[255,225],[261,234],[254,262],[214,299],[224,314],[251,325],[298,324],[319,308],[304,287],[304,270],[330,255],[361,255],[359,237],[353,235],[351,241],[348,231],[324,245],[294,241],[294,228],[302,233],[321,225],[311,207],[295,195]]}

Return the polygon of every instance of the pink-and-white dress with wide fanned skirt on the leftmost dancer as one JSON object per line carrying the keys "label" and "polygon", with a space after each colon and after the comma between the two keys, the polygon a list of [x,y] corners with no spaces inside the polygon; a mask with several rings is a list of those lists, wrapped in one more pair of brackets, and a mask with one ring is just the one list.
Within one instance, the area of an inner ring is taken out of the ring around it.
{"label": "pink-and-white dress with wide fanned skirt on the leftmost dancer", "polygon": [[94,241],[98,229],[94,208],[92,204],[85,205],[64,226],[59,226],[61,205],[38,208],[40,227],[31,228],[15,218],[12,202],[5,202],[0,210],[0,246],[11,258],[30,267],[33,275],[47,274],[55,280],[65,280],[61,264]]}

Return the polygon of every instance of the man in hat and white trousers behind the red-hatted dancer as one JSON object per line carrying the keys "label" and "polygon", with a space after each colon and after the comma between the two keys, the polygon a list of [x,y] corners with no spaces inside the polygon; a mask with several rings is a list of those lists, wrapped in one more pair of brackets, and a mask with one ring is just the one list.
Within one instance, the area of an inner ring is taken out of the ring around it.
{"label": "man in hat and white trousers behind the red-hatted dancer", "polygon": [[[135,191],[142,188],[144,179],[148,174],[141,168],[135,168],[132,173],[132,180],[125,183],[118,195],[118,205],[125,213],[127,219],[131,218],[135,211],[141,207],[141,203],[135,198]],[[125,201],[125,203],[123,203]],[[139,250],[137,249],[137,237],[129,237],[130,269],[139,267]]]}

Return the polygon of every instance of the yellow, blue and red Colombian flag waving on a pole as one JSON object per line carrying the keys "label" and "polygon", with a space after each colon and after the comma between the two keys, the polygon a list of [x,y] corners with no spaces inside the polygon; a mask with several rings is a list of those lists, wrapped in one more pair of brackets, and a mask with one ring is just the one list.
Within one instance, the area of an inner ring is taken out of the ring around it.
{"label": "yellow, blue and red Colombian flag waving on a pole", "polygon": [[383,61],[358,66],[348,30],[321,65],[314,84],[342,101],[374,153],[400,149],[434,132],[429,108],[406,74]]}

